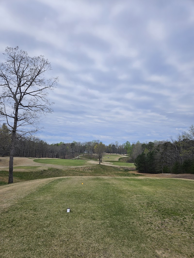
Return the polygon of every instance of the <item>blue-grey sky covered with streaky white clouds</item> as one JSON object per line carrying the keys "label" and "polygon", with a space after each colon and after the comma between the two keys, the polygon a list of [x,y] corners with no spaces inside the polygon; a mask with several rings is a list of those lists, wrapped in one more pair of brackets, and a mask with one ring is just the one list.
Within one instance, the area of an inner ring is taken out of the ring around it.
{"label": "blue-grey sky covered with streaky white clouds", "polygon": [[194,1],[1,0],[0,13],[0,61],[19,46],[59,77],[42,140],[167,140],[194,123]]}

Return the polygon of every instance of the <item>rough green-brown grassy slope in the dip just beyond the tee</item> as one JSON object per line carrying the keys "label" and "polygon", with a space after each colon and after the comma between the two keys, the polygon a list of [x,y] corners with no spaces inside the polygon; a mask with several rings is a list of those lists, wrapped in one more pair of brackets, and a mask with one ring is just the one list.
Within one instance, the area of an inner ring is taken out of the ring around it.
{"label": "rough green-brown grassy slope in the dip just beyond the tee", "polygon": [[[49,167],[48,169],[30,172],[14,171],[13,175],[13,182],[59,176],[138,176],[136,174],[129,173],[127,168],[116,168],[99,164],[94,166],[69,168],[68,170]],[[8,171],[0,171],[0,184],[6,184],[8,182],[8,176]]]}

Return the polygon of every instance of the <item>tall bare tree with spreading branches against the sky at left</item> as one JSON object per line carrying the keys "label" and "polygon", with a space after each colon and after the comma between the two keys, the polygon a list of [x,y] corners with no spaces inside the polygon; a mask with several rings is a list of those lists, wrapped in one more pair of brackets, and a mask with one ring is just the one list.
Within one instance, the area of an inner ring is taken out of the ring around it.
{"label": "tall bare tree with spreading branches against the sky at left", "polygon": [[0,64],[0,115],[11,131],[9,183],[13,183],[13,155],[16,132],[20,137],[38,130],[40,113],[52,112],[47,98],[58,78],[46,80],[43,75],[51,70],[42,55],[29,57],[18,47],[6,47],[5,62]]}

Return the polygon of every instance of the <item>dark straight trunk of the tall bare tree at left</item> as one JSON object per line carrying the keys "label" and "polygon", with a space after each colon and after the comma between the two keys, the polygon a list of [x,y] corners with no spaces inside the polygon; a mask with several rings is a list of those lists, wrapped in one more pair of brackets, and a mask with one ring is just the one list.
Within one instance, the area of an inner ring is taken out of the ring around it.
{"label": "dark straight trunk of the tall bare tree at left", "polygon": [[14,124],[13,124],[12,136],[11,136],[8,184],[13,183],[13,155],[14,155],[14,150],[15,150],[17,122],[18,122],[18,107],[16,107],[16,110],[15,110]]}

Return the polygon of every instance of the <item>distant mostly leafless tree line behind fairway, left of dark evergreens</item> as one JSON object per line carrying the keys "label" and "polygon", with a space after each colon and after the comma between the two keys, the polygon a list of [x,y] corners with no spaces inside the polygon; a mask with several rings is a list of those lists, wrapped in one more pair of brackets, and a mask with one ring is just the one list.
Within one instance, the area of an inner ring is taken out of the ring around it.
{"label": "distant mostly leafless tree line behind fairway, left of dark evergreens", "polygon": [[[48,144],[37,137],[24,136],[16,134],[14,156],[15,157],[32,157],[32,158],[61,158],[70,159],[79,157],[80,154],[89,155],[96,153],[95,146],[100,143],[99,140],[85,142],[59,142]],[[101,145],[100,145],[101,146]],[[9,156],[11,148],[11,131],[3,123],[0,125],[0,155]],[[97,148],[97,147],[96,147]],[[108,146],[103,144],[103,152],[124,154],[126,149],[124,144],[118,142],[111,143]]]}

